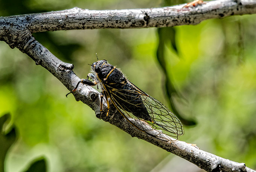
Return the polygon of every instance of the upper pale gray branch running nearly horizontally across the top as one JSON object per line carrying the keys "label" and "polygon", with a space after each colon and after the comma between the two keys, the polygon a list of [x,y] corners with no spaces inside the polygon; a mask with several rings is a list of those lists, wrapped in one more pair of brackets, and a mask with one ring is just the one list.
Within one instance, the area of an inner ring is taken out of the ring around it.
{"label": "upper pale gray branch running nearly horizontally across the top", "polygon": [[256,13],[255,0],[215,0],[192,8],[184,8],[184,5],[120,10],[73,8],[42,14],[1,17],[0,24],[8,23],[12,27],[23,25],[34,33],[70,29],[171,27],[198,24],[209,18]]}

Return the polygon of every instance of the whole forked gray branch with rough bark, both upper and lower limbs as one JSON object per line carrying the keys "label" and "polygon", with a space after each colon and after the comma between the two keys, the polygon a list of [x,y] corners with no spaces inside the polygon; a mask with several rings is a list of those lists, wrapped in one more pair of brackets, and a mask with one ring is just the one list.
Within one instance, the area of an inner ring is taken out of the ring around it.
{"label": "whole forked gray branch with rough bark, both upper and lower limbs", "polygon": [[[55,57],[47,48],[35,40],[32,33],[71,29],[171,27],[198,24],[209,18],[255,13],[256,0],[216,0],[206,2],[206,4],[196,8],[184,8],[184,4],[164,8],[103,11],[73,8],[42,14],[0,17],[0,40],[5,41],[11,48],[17,47],[20,51],[26,53],[35,61],[36,65],[46,68],[67,89],[72,91],[80,80],[72,71],[74,66]],[[90,106],[98,118],[116,125],[132,137],[146,140],[196,164],[206,171],[255,172],[246,167],[244,163],[236,163],[218,157],[186,142],[165,142],[151,137],[126,121],[113,105],[111,105],[109,116],[100,116],[99,92],[89,86],[80,84],[73,94],[77,101],[81,100]],[[106,111],[105,102],[103,106]]]}

